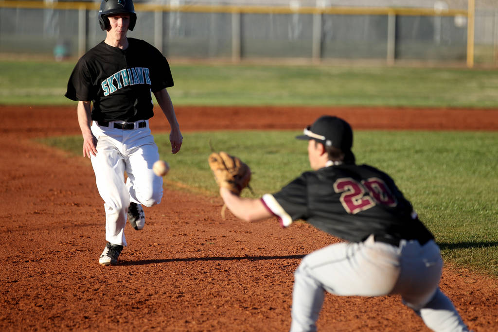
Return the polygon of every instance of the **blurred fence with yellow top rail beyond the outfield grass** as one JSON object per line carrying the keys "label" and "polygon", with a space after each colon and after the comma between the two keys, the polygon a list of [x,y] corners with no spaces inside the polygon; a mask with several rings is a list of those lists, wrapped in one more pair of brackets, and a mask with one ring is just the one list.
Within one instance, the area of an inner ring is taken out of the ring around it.
{"label": "blurred fence with yellow top rail beyond the outfield grass", "polygon": [[[77,58],[101,0],[0,0],[0,56]],[[134,0],[168,59],[498,66],[498,0]],[[345,5],[346,4],[346,5]]]}

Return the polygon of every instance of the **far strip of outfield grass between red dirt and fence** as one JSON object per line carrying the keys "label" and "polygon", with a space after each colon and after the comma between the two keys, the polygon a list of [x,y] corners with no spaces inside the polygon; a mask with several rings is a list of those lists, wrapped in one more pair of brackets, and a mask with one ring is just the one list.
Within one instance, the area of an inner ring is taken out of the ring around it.
{"label": "far strip of outfield grass between red dirt and fence", "polygon": [[[0,104],[74,105],[75,61],[0,61]],[[174,105],[498,107],[493,70],[171,63]]]}

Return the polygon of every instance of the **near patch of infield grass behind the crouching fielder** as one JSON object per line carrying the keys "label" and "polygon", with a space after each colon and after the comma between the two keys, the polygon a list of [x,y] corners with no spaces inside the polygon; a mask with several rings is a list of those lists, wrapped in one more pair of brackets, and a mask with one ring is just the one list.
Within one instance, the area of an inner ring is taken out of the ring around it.
{"label": "near patch of infield grass behind the crouching fielder", "polygon": [[[184,134],[171,155],[167,134],[156,134],[171,165],[166,185],[217,195],[207,164],[209,141],[246,161],[255,197],[277,191],[309,170],[297,131],[224,131]],[[80,136],[40,139],[81,156]],[[498,277],[498,132],[355,132],[358,163],[390,174],[435,234],[445,261]],[[244,196],[252,197],[249,191]]]}

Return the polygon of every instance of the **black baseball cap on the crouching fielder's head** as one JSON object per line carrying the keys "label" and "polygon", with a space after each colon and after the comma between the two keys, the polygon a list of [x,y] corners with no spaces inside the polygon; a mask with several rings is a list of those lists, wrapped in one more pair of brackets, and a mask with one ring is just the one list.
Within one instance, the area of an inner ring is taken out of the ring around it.
{"label": "black baseball cap on the crouching fielder's head", "polygon": [[323,115],[304,128],[304,135],[297,139],[314,139],[325,146],[334,146],[343,152],[351,151],[353,130],[348,122],[337,116]]}

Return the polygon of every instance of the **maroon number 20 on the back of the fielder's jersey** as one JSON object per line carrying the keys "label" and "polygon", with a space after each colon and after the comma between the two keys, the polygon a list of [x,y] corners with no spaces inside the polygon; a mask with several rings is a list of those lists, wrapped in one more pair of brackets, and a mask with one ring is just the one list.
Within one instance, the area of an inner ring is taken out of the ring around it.
{"label": "maroon number 20 on the back of the fielder's jersey", "polygon": [[334,183],[334,191],[342,193],[341,203],[352,215],[372,208],[376,204],[395,207],[396,198],[391,194],[385,182],[379,178],[370,178],[358,182],[353,178],[341,178]]}

